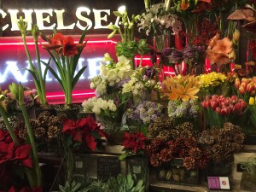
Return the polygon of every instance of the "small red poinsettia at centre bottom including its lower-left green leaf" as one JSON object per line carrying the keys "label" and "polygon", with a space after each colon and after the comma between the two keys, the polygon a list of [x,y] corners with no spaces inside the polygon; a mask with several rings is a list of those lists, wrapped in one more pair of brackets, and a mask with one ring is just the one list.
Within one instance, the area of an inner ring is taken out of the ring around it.
{"label": "small red poinsettia at centre bottom including its lower-left green leaf", "polygon": [[127,156],[131,155],[145,155],[146,141],[147,137],[144,137],[142,132],[125,132],[123,143],[123,151],[125,151],[125,153],[119,156],[119,160],[125,160]]}

